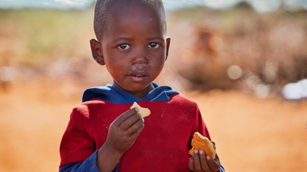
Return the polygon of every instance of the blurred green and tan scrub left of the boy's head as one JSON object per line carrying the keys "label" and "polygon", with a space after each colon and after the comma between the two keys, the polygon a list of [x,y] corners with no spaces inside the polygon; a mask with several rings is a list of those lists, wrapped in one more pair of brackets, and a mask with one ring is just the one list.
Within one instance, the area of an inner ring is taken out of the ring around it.
{"label": "blurred green and tan scrub left of the boy's head", "polygon": [[13,69],[15,80],[85,79],[93,11],[0,9],[0,68]]}

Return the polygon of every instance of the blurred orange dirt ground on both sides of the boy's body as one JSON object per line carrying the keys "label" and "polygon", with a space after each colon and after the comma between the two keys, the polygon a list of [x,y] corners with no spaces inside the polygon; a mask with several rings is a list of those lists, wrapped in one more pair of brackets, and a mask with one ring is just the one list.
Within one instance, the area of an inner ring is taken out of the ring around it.
{"label": "blurred orange dirt ground on both sides of the boy's body", "polygon": [[[84,88],[28,82],[0,92],[0,171],[57,171],[61,136]],[[219,90],[184,95],[199,104],[227,171],[307,169],[307,101]]]}

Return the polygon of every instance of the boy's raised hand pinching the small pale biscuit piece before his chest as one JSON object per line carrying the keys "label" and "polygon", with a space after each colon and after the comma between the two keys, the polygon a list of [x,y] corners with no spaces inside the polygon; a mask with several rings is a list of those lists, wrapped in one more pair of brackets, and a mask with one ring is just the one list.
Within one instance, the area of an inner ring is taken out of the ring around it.
{"label": "boy's raised hand pinching the small pale biscuit piece before his chest", "polygon": [[131,148],[143,128],[144,119],[137,113],[137,108],[129,109],[112,122],[105,145],[123,154]]}

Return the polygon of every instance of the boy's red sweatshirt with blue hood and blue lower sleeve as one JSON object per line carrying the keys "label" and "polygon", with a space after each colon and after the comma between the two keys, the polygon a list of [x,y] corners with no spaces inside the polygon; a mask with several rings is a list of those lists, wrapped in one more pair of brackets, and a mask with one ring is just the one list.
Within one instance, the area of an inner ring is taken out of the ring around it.
{"label": "boy's red sweatshirt with blue hood and blue lower sleeve", "polygon": [[114,171],[190,172],[193,134],[200,132],[210,139],[198,105],[168,86],[152,84],[155,89],[144,99],[112,85],[85,90],[83,103],[73,109],[62,137],[59,171],[98,172],[97,150],[106,140],[109,125],[138,102],[151,114],[144,118],[142,133]]}

